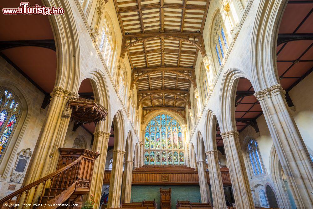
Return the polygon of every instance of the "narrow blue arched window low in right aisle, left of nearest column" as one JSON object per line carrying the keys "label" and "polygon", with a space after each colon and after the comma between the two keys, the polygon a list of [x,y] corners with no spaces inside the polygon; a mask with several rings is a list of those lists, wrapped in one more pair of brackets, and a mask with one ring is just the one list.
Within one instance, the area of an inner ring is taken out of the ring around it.
{"label": "narrow blue arched window low in right aisle, left of nearest column", "polygon": [[254,175],[264,173],[261,158],[259,155],[258,143],[254,139],[250,139],[247,145],[247,152],[250,159],[251,167]]}

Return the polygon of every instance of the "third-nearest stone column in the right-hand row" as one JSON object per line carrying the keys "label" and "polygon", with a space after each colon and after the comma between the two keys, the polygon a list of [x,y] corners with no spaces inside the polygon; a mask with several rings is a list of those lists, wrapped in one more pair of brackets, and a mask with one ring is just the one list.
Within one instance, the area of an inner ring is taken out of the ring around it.
{"label": "third-nearest stone column in the right-hand row", "polygon": [[207,155],[208,159],[208,170],[213,197],[213,208],[227,209],[228,207],[225,201],[222,175],[218,165],[218,151],[209,150],[206,151],[205,154]]}

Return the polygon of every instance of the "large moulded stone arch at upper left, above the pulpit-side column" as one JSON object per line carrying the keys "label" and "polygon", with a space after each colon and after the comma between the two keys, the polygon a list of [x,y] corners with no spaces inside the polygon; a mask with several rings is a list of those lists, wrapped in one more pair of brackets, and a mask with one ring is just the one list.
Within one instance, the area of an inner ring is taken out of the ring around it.
{"label": "large moulded stone arch at upper left, above the pulpit-side column", "polygon": [[[63,15],[48,15],[57,51],[55,86],[77,92],[80,78],[80,47],[76,24],[68,1],[44,1],[46,7],[61,7]],[[68,82],[71,81],[71,82]]]}

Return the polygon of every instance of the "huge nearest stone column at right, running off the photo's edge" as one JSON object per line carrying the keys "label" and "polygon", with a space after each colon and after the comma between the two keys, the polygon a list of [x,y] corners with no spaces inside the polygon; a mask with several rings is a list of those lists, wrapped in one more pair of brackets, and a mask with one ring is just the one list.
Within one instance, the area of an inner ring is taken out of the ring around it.
{"label": "huge nearest stone column at right, running off the photo's edge", "polygon": [[254,94],[259,100],[297,208],[313,208],[313,166],[280,85]]}

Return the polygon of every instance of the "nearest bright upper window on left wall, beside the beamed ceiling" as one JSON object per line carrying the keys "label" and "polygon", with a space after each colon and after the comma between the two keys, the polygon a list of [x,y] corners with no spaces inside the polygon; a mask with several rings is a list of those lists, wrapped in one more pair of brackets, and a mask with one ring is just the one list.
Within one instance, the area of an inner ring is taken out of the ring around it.
{"label": "nearest bright upper window on left wall, beside the beamed ceiling", "polygon": [[105,19],[103,23],[103,30],[101,33],[99,49],[103,54],[103,58],[105,60],[105,64],[110,66],[111,60],[113,57],[113,38],[112,31],[108,24],[108,21]]}

